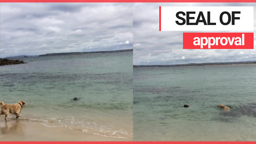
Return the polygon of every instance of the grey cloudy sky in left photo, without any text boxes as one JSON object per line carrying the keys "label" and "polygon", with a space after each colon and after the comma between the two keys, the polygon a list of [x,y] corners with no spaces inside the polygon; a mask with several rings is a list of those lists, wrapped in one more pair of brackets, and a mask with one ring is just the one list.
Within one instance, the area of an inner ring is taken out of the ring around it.
{"label": "grey cloudy sky in left photo, without any text boxes", "polygon": [[1,58],[132,49],[131,3],[1,3]]}

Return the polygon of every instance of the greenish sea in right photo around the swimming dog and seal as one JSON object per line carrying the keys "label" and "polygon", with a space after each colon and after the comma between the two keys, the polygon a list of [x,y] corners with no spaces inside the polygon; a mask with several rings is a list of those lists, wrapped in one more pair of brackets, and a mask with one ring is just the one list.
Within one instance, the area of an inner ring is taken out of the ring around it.
{"label": "greenish sea in right photo around the swimming dog and seal", "polygon": [[255,71],[256,65],[134,68],[134,141],[256,141]]}

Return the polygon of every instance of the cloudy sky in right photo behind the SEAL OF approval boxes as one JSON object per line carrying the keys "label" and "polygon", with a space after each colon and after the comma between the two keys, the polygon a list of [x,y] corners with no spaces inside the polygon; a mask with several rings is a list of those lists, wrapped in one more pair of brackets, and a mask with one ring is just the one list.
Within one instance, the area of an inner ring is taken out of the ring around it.
{"label": "cloudy sky in right photo behind the SEAL OF approval boxes", "polygon": [[254,6],[256,27],[255,3],[137,3],[133,11],[133,65],[256,61],[255,50],[183,50],[183,32],[213,31],[158,31],[159,6]]}

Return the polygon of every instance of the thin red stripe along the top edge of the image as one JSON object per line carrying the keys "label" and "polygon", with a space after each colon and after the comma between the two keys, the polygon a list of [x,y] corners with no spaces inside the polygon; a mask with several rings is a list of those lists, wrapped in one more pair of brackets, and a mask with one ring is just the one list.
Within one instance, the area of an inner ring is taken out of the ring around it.
{"label": "thin red stripe along the top edge of the image", "polygon": [[1,0],[1,3],[255,3],[256,0]]}

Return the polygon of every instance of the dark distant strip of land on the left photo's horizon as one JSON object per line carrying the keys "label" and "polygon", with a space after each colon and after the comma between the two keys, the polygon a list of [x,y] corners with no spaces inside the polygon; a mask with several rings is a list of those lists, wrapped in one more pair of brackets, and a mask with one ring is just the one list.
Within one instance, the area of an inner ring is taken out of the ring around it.
{"label": "dark distant strip of land on the left photo's horizon", "polygon": [[47,53],[39,55],[39,57],[45,57],[45,56],[55,56],[55,55],[76,55],[76,54],[88,54],[88,53],[113,53],[113,52],[130,52],[133,51],[133,49],[127,49],[127,50],[115,50],[115,51],[93,51],[93,52],[66,52],[66,53]]}

